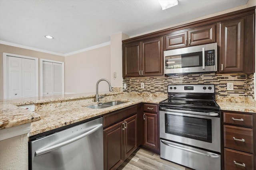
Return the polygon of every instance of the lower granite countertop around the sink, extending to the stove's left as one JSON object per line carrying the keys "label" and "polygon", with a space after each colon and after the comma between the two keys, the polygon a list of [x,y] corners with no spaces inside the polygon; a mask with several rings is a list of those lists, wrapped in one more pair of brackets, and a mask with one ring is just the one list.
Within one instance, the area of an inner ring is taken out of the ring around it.
{"label": "lower granite countertop around the sink, extending to the stove's left", "polygon": [[70,125],[72,123],[83,121],[92,117],[104,115],[106,113],[139,104],[141,102],[159,104],[166,98],[166,95],[161,97],[122,95],[122,97],[117,97],[112,101],[121,101],[126,103],[103,109],[90,109],[86,107],[89,105],[97,104],[96,102],[86,105],[72,104],[70,106],[67,105],[62,107],[43,109],[42,111],[37,111],[37,113],[41,116],[41,120],[32,123],[30,136],[50,131],[58,127],[63,127],[65,125]]}

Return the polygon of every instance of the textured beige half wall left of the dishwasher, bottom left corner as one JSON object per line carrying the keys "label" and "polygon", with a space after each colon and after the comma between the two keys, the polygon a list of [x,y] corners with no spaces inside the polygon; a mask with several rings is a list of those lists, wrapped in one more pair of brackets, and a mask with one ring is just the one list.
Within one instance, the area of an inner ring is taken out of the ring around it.
{"label": "textured beige half wall left of the dishwasher, bottom left corner", "polygon": [[0,169],[28,170],[28,135],[0,141]]}

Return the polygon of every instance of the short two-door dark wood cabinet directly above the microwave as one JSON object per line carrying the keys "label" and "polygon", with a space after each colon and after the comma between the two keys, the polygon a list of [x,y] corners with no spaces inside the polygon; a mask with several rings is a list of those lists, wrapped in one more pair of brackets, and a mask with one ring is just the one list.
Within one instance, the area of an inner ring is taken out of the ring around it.
{"label": "short two-door dark wood cabinet directly above the microwave", "polygon": [[215,24],[188,29],[165,36],[165,50],[215,42]]}

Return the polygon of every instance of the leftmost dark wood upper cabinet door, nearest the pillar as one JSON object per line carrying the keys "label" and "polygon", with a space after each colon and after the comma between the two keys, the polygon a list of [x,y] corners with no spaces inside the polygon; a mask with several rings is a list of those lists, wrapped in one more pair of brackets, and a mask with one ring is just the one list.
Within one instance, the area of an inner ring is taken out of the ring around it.
{"label": "leftmost dark wood upper cabinet door, nearest the pillar", "polygon": [[123,44],[123,76],[140,76],[141,72],[141,43]]}

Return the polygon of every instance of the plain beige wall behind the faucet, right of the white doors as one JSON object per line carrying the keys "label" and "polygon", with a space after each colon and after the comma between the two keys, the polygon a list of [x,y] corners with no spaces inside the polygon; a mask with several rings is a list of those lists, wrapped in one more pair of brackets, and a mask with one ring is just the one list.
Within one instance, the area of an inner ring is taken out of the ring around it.
{"label": "plain beige wall behind the faucet, right of the white doors", "polygon": [[[96,92],[101,78],[110,81],[110,45],[65,57],[65,92]],[[107,82],[100,82],[99,92],[108,90]]]}

